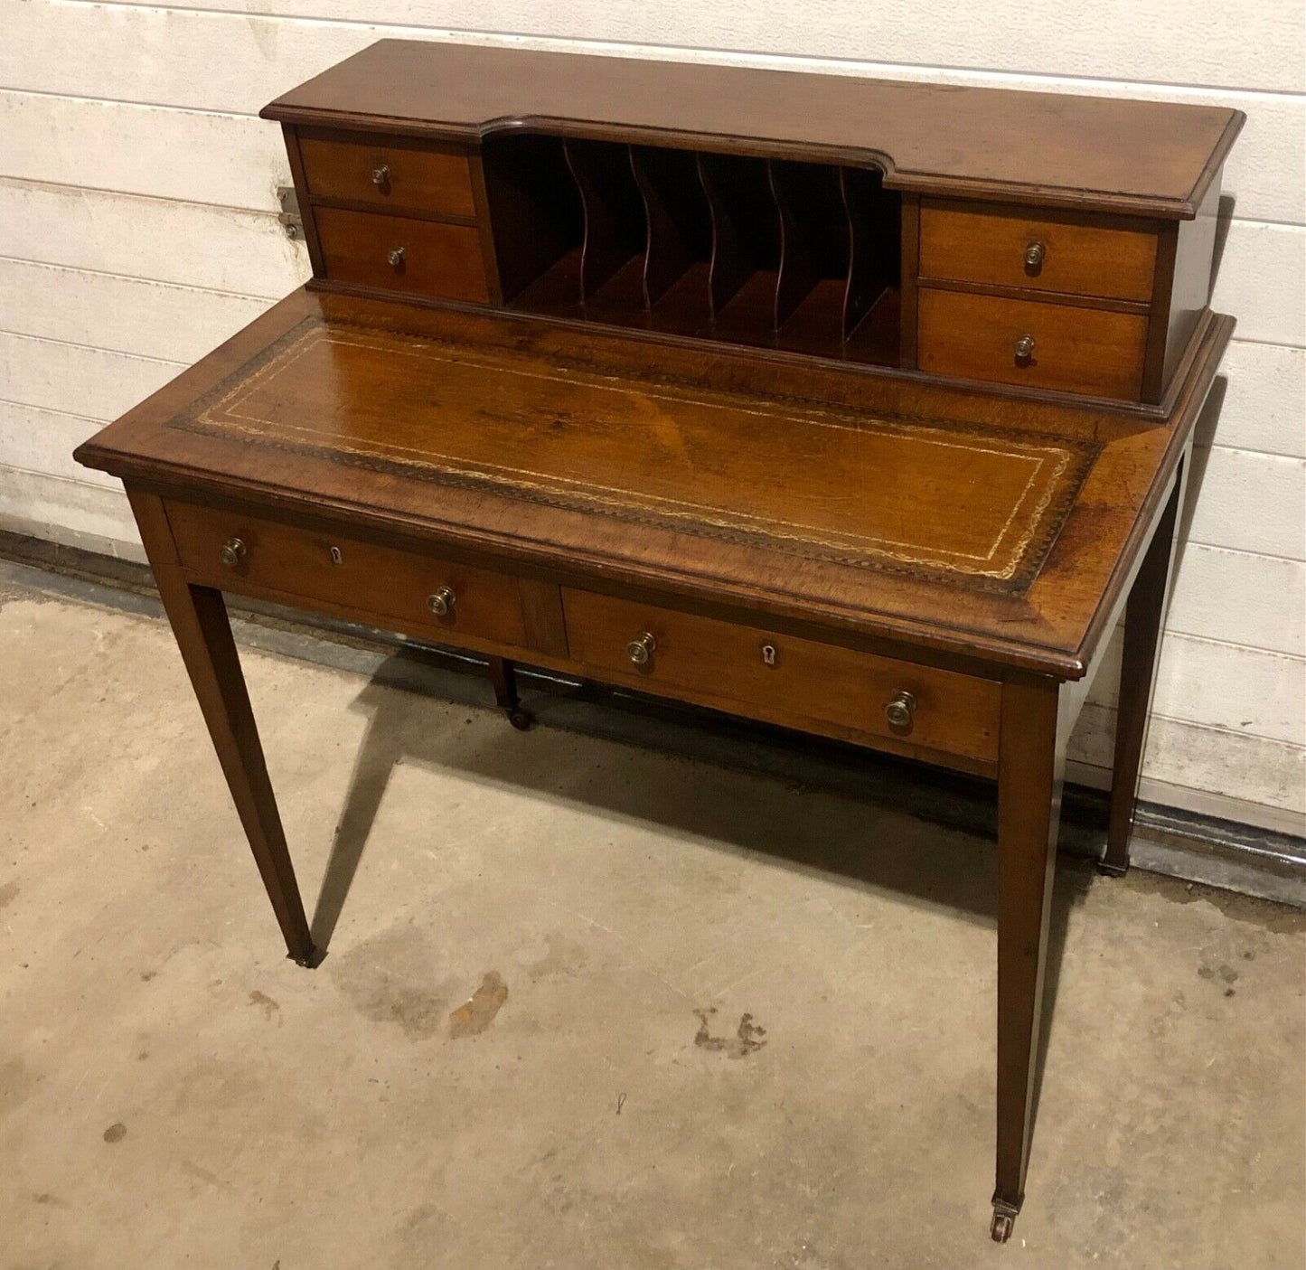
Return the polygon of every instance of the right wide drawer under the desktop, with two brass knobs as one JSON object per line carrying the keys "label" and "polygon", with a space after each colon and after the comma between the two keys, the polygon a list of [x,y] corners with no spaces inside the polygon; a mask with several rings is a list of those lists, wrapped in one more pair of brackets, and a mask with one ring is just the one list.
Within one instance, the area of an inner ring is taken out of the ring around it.
{"label": "right wide drawer under the desktop, with two brass knobs", "polygon": [[565,587],[563,613],[596,678],[906,753],[998,758],[994,681]]}

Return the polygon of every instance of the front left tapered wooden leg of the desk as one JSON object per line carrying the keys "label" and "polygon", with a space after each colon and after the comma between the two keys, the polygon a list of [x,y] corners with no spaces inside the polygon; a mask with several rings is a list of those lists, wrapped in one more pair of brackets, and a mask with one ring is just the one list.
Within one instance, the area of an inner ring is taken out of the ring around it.
{"label": "front left tapered wooden leg of the desk", "polygon": [[163,610],[172,625],[286,947],[300,966],[316,966],[321,958],[308,933],[222,592],[187,583],[174,555],[162,503],[148,495],[133,493],[131,497]]}

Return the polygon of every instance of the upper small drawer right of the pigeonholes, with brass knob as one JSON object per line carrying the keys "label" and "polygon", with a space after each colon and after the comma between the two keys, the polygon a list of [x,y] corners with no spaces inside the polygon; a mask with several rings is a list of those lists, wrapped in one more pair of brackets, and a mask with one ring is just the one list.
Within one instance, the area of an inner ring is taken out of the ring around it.
{"label": "upper small drawer right of the pigeonholes, with brass knob", "polygon": [[921,277],[1148,301],[1156,230],[1124,217],[921,204]]}

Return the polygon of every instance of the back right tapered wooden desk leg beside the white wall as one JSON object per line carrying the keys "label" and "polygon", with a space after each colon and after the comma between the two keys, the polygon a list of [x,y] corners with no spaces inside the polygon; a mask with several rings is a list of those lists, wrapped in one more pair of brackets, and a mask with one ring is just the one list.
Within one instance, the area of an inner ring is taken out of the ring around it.
{"label": "back right tapered wooden desk leg beside the white wall", "polygon": [[[1183,470],[1187,469],[1187,463]],[[1122,874],[1130,866],[1130,836],[1138,804],[1139,775],[1147,721],[1152,712],[1157,652],[1170,596],[1170,564],[1175,529],[1183,504],[1183,470],[1157,523],[1152,545],[1143,557],[1134,588],[1124,606],[1124,648],[1121,657],[1121,692],[1115,711],[1115,762],[1111,768],[1111,805],[1106,827],[1102,873]]]}

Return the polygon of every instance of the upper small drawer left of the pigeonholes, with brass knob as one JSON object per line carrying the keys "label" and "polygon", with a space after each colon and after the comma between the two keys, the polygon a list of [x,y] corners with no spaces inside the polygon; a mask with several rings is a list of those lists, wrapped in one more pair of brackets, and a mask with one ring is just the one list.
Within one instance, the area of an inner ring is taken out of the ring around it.
{"label": "upper small drawer left of the pigeonholes, with brass knob", "polygon": [[319,199],[370,203],[431,216],[474,218],[468,157],[396,138],[341,141],[299,135],[308,192]]}

